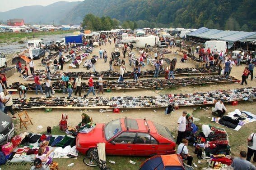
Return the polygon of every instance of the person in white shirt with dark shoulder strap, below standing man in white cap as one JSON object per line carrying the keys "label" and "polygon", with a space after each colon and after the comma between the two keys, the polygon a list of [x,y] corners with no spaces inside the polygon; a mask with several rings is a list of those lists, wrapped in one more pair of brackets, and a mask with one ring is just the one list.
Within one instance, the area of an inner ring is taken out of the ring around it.
{"label": "person in white shirt with dark shoulder strap, below standing man in white cap", "polygon": [[[179,144],[177,148],[177,154],[179,154],[182,157],[182,159],[187,161],[187,165],[192,166],[193,157],[188,153],[187,145],[188,145],[188,140],[183,139],[182,143]],[[194,166],[196,167],[195,164]]]}

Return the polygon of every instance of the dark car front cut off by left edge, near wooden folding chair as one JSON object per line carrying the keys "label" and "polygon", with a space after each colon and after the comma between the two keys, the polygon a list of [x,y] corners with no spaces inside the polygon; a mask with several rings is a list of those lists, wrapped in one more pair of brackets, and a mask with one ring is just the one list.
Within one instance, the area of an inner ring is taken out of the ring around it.
{"label": "dark car front cut off by left edge, near wooden folding chair", "polygon": [[5,144],[14,135],[12,118],[0,111],[0,145]]}

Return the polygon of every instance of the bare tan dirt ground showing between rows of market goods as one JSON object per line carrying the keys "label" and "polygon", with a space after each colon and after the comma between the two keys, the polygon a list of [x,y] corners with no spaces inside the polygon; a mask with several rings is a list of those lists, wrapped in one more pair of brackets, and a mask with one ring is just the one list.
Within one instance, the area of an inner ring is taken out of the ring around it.
{"label": "bare tan dirt ground showing between rows of market goods", "polygon": [[[113,42],[113,41],[112,41]],[[109,69],[109,65],[108,65],[108,61],[109,58],[111,56],[111,52],[114,51],[114,44],[112,43],[112,45],[108,44],[105,46],[101,46],[101,47],[97,47],[93,49],[93,53],[90,54],[90,56],[92,55],[98,55],[98,50],[99,48],[102,49],[106,49],[107,50],[107,55],[108,55],[108,59],[107,59],[107,63],[104,63],[104,59],[98,59],[97,63],[96,63],[96,71],[100,72],[100,71],[106,71]],[[121,49],[120,49],[121,50]],[[171,49],[173,52],[176,51],[177,49]],[[133,51],[135,52],[136,56],[139,56],[138,51],[136,51],[135,49],[133,49]],[[65,54],[64,54],[65,55]],[[121,54],[122,56],[122,54]],[[196,64],[194,61],[190,61],[190,59],[188,59],[187,63],[180,63],[181,60],[181,56],[177,55],[177,54],[165,54],[164,55],[167,58],[177,58],[177,68],[184,68],[184,67],[195,67]],[[126,71],[132,71],[133,67],[129,66],[129,60],[128,57],[125,58],[125,62],[126,62]],[[40,60],[35,60],[35,69],[44,69],[44,67],[40,66],[41,63],[41,59]],[[90,72],[92,70],[86,70],[86,68],[81,66],[79,67],[79,69],[69,69],[69,63],[66,63],[64,65],[64,71],[65,72]],[[242,76],[242,71],[244,69],[245,65],[236,67],[233,66],[232,72],[231,72],[231,76],[235,76],[237,78],[241,78]],[[149,69],[152,70],[153,67],[152,66],[147,66],[144,69]],[[142,69],[142,71],[144,70]],[[119,71],[119,70],[118,70]],[[184,78],[184,77],[177,77],[177,78]],[[98,80],[98,78],[94,78],[94,80]],[[104,80],[104,77],[103,77]],[[125,78],[125,80],[128,80]],[[14,76],[11,76],[8,78],[8,84],[11,84],[13,82],[24,82],[24,83],[28,83],[29,81],[24,81],[22,80],[21,77],[19,77],[18,73],[15,73]],[[117,81],[117,80],[116,80]],[[30,81],[32,82],[32,81]],[[149,96],[156,96],[159,94],[177,94],[177,93],[194,93],[194,92],[203,92],[203,91],[210,91],[210,90],[217,90],[217,89],[235,89],[235,88],[242,88],[242,87],[255,87],[256,86],[256,81],[250,81],[247,79],[248,85],[239,85],[238,83],[227,83],[227,84],[212,84],[212,85],[208,85],[208,86],[187,86],[187,87],[179,87],[179,88],[175,88],[175,89],[164,89],[164,90],[150,90],[150,89],[138,89],[138,90],[116,90],[116,91],[112,91],[111,93],[106,93],[106,97],[107,96],[145,96],[145,95],[149,95]],[[90,94],[92,95],[92,94]],[[28,97],[35,97],[36,94],[33,92],[29,92],[27,94]],[[55,94],[55,96],[63,96],[63,94]],[[18,94],[13,94],[13,97],[16,98],[18,97]],[[67,95],[66,95],[67,97]],[[228,109],[228,112],[233,111],[234,109],[240,109],[240,110],[246,110],[249,112],[252,112],[254,114],[256,114],[256,107],[255,107],[255,102],[250,103],[250,102],[242,102],[239,103],[237,106],[232,106],[230,104],[226,104],[226,107]],[[68,125],[69,126],[75,126],[77,125],[80,121],[81,121],[81,114],[82,112],[87,112],[87,114],[91,117],[93,117],[93,121],[96,123],[107,123],[108,121],[112,121],[121,117],[130,117],[130,118],[138,118],[138,119],[148,119],[148,120],[152,120],[155,121],[157,123],[160,123],[162,125],[167,126],[171,131],[175,131],[175,129],[177,128],[177,119],[178,117],[182,114],[182,111],[186,110],[189,113],[192,113],[194,111],[194,107],[181,107],[180,109],[176,110],[173,114],[173,118],[172,117],[168,117],[168,116],[164,116],[164,108],[146,108],[146,109],[121,109],[121,112],[119,114],[113,113],[113,112],[107,112],[107,113],[100,113],[98,112],[98,110],[69,110],[69,109],[53,109],[52,112],[50,113],[46,113],[44,112],[43,109],[32,109],[32,110],[28,110],[28,115],[30,117],[33,117],[33,125],[28,125],[28,132],[33,132],[33,133],[42,133],[43,131],[46,131],[47,126],[56,126],[59,124],[59,121],[61,120],[61,114],[62,113],[66,113],[68,114]],[[205,118],[205,122],[207,122],[207,124],[211,123],[210,122],[210,118],[211,117],[211,111],[210,110],[198,110],[195,114],[195,117],[197,118]],[[209,121],[208,121],[209,120]],[[200,122],[200,121],[199,121]],[[38,130],[37,126],[42,125],[42,129]],[[247,127],[250,127],[250,125],[254,125],[251,127],[255,127],[255,123],[252,124],[247,124]],[[245,127],[242,127],[245,128]],[[23,131],[24,128],[22,130],[20,130],[19,125],[16,125],[16,131],[20,132]],[[227,129],[227,128],[226,128]],[[250,129],[250,128],[249,128]],[[251,128],[251,130],[248,130],[247,134],[251,134],[253,132],[253,130],[255,130],[255,128]],[[241,148],[246,148],[246,143],[241,143],[241,147],[237,148],[237,149],[241,149]],[[232,148],[232,146],[231,146]],[[238,150],[234,149],[235,151],[233,152],[234,156],[238,156]]]}

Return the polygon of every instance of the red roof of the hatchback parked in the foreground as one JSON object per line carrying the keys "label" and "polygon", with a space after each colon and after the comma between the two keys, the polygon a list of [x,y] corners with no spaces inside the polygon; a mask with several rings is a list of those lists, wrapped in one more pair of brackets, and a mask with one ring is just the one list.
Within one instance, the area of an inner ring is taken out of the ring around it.
{"label": "red roof of the hatchback parked in the foreground", "polygon": [[[131,127],[129,127],[129,130],[130,131],[137,131],[137,132],[142,132],[142,133],[153,133],[153,134],[157,134],[157,131],[156,131],[156,128],[155,128],[155,125],[154,125],[154,122],[152,121],[148,121],[146,119],[130,119],[130,118],[121,118],[120,119],[120,123],[121,123],[121,128],[122,130],[127,130],[127,127],[126,127],[126,122],[134,122],[136,121],[137,122],[137,125],[131,125]],[[128,130],[128,131],[129,131]]]}

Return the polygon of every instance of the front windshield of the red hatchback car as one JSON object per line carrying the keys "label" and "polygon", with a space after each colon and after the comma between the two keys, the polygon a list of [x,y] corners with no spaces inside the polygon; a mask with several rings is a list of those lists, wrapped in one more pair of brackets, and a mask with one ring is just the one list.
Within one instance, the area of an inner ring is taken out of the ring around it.
{"label": "front windshield of the red hatchback car", "polygon": [[111,139],[113,136],[121,132],[120,119],[108,122],[105,126],[105,136],[106,139]]}

